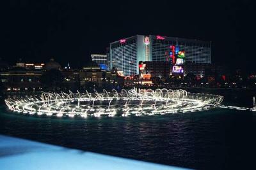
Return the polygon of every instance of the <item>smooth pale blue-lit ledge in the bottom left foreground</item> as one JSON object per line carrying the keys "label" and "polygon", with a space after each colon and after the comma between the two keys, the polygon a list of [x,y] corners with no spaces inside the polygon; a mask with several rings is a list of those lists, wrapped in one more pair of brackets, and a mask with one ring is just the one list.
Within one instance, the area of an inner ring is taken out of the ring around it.
{"label": "smooth pale blue-lit ledge in the bottom left foreground", "polygon": [[0,169],[184,169],[0,135]]}

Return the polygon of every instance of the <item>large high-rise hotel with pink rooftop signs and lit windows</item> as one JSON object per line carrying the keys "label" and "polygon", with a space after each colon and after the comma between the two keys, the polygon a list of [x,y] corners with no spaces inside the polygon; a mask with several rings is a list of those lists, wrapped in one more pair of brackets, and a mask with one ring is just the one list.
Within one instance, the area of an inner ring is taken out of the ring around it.
{"label": "large high-rise hotel with pink rooftop signs and lit windows", "polygon": [[173,46],[186,53],[187,61],[211,64],[211,41],[136,35],[110,43],[109,66],[116,67],[125,76],[139,74],[140,61],[174,62]]}

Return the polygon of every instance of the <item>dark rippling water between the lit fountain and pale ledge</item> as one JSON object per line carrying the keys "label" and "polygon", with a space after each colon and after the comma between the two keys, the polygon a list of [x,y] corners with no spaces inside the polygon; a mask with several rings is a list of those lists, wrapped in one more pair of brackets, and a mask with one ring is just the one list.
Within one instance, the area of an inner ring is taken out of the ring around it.
{"label": "dark rippling water between the lit fountain and pale ledge", "polygon": [[255,115],[218,108],[152,117],[52,118],[9,113],[2,106],[0,133],[172,166],[247,169],[256,157]]}

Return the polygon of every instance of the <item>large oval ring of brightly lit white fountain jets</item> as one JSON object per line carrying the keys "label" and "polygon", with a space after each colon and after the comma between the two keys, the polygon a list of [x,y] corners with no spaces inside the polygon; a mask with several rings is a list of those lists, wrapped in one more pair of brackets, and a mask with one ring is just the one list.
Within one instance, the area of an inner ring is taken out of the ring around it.
{"label": "large oval ring of brightly lit white fountain jets", "polygon": [[186,90],[122,89],[121,93],[44,92],[40,96],[13,97],[5,103],[12,111],[55,117],[107,117],[164,115],[209,110],[220,106],[222,96],[194,94]]}

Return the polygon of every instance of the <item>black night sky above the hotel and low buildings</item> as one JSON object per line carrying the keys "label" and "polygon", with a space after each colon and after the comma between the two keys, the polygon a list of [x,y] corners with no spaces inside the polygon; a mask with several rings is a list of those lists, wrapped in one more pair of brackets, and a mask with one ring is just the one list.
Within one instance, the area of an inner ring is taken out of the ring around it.
{"label": "black night sky above the hotel and low buildings", "polygon": [[212,60],[253,68],[253,1],[9,1],[0,57],[83,66],[90,53],[135,34],[212,41]]}

